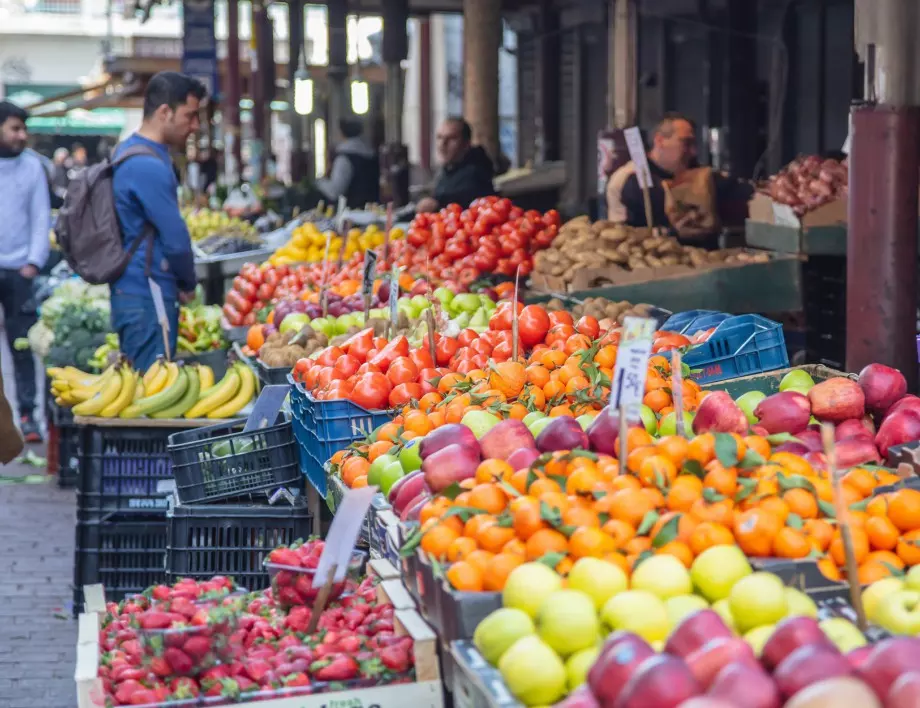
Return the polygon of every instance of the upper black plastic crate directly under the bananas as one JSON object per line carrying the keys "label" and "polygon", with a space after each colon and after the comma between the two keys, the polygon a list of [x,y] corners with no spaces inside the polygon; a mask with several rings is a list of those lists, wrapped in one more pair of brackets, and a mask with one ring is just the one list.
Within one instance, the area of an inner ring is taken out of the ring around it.
{"label": "upper black plastic crate directly under the bananas", "polygon": [[78,504],[103,513],[166,511],[168,428],[81,428]]}

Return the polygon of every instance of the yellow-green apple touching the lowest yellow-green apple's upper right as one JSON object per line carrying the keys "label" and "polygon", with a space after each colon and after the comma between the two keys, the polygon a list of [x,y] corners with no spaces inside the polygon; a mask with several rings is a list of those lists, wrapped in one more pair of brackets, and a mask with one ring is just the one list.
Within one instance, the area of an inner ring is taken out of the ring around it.
{"label": "yellow-green apple touching the lowest yellow-green apple's upper right", "polygon": [[580,590],[556,590],[547,595],[534,624],[540,639],[563,658],[596,646],[601,637],[594,600]]}

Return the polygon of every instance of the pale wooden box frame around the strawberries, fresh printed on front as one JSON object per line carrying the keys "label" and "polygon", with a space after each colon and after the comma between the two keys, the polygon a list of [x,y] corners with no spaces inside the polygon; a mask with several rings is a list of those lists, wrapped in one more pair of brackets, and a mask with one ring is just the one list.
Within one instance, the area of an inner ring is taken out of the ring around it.
{"label": "pale wooden box frame around the strawberries, fresh printed on front", "polygon": [[[380,565],[375,572],[392,574],[389,564]],[[382,576],[381,576],[382,577]],[[247,705],[258,703],[262,708],[444,708],[444,694],[438,662],[437,636],[431,627],[411,609],[412,600],[398,579],[384,580],[377,587],[378,597],[396,608],[394,631],[398,636],[411,636],[414,642],[415,681],[371,687],[355,687],[313,695],[279,698],[259,698],[255,701],[227,703],[219,699],[191,699],[147,706],[146,708],[189,708],[193,706]],[[105,617],[105,594],[101,585],[84,588],[86,609],[79,617],[77,662],[74,680],[77,688],[77,708],[104,708],[102,680],[99,678],[99,629]],[[334,684],[330,684],[334,685]],[[290,689],[288,689],[290,690]]]}

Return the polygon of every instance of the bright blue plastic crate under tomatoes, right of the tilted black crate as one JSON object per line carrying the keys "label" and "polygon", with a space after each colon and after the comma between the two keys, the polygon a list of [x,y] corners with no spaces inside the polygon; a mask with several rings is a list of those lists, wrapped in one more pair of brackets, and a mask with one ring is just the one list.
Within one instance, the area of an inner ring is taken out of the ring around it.
{"label": "bright blue plastic crate under tomatoes, right of the tilted black crate", "polygon": [[316,401],[296,382],[291,388],[291,412],[301,470],[324,498],[326,461],[393,417],[390,411],[369,411],[348,400]]}

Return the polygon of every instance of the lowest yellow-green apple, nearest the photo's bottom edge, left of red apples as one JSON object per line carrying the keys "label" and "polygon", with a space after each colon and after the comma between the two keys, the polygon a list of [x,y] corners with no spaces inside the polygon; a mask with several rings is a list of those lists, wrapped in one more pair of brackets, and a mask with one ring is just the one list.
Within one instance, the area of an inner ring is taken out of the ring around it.
{"label": "lowest yellow-green apple, nearest the photo's bottom edge, left of red apples", "polygon": [[536,635],[521,637],[502,655],[498,671],[525,706],[553,705],[567,691],[565,664]]}

